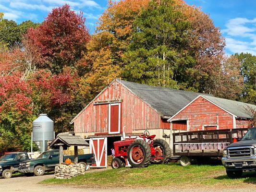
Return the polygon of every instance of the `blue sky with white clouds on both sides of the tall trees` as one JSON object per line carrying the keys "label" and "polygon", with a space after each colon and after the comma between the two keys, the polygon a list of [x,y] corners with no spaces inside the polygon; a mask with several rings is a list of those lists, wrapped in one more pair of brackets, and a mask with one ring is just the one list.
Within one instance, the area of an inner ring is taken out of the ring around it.
{"label": "blue sky with white clouds on both sides of the tall trees", "polygon": [[[256,55],[256,0],[185,0],[209,14],[226,38],[226,53],[249,52]],[[52,8],[70,4],[82,10],[92,33],[107,0],[0,0],[0,12],[17,23],[42,22]]]}

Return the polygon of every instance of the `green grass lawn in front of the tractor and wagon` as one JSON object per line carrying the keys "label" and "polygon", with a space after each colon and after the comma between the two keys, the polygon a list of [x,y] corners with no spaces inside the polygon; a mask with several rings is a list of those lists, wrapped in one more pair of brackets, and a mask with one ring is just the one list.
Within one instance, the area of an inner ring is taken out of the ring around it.
{"label": "green grass lawn in front of the tractor and wagon", "polygon": [[[244,173],[241,179],[229,179],[221,165],[179,164],[150,165],[147,168],[107,169],[87,172],[69,180],[49,179],[44,184],[88,185],[90,187],[155,187],[155,186],[232,186],[239,187],[256,184],[256,174]],[[255,187],[255,185],[253,185]]]}

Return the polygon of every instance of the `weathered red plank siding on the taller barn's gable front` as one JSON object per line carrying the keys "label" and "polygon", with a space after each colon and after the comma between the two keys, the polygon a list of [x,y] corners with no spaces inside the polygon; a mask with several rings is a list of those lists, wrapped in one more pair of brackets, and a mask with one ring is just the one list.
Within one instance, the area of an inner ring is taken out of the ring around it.
{"label": "weathered red plank siding on the taller barn's gable front", "polygon": [[122,99],[121,130],[132,133],[132,130],[170,128],[162,121],[156,110],[131,93],[126,87],[114,81],[104,90],[75,120],[74,131],[108,132],[108,104],[94,105],[97,101]]}

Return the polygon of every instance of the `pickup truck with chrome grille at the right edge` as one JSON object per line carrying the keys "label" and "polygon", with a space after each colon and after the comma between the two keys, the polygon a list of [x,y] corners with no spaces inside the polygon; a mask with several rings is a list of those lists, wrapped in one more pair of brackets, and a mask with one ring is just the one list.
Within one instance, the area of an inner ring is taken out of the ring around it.
{"label": "pickup truck with chrome grille at the right edge", "polygon": [[241,177],[243,171],[256,171],[256,127],[223,150],[222,164],[230,178]]}

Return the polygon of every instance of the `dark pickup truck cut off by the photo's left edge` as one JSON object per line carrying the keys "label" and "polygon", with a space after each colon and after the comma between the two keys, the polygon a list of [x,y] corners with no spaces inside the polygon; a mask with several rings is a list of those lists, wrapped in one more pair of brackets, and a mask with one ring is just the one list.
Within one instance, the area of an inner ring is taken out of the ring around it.
{"label": "dark pickup truck cut off by the photo's left edge", "polygon": [[0,158],[0,177],[11,178],[12,173],[18,172],[20,163],[28,160],[26,152],[12,152]]}

